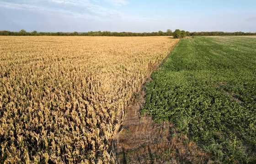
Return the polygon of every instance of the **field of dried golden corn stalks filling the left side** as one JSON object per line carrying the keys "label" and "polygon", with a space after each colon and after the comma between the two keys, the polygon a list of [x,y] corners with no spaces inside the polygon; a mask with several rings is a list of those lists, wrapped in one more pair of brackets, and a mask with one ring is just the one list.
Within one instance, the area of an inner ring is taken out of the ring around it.
{"label": "field of dried golden corn stalks filling the left side", "polygon": [[169,37],[0,36],[0,163],[112,163],[108,144]]}

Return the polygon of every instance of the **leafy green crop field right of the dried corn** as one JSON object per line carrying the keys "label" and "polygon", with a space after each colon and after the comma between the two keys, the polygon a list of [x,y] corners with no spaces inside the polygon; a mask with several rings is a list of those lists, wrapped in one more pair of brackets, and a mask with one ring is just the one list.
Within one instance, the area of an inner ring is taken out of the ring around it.
{"label": "leafy green crop field right of the dried corn", "polygon": [[181,40],[146,84],[143,112],[168,120],[212,160],[256,163],[256,38]]}

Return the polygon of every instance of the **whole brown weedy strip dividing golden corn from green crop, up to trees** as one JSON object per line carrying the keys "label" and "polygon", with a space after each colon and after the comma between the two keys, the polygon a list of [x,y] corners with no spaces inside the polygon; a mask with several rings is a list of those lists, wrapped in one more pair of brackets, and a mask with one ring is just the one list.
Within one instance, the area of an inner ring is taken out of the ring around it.
{"label": "whole brown weedy strip dividing golden corn from green crop, up to trees", "polygon": [[[132,103],[125,109],[123,122],[110,147],[110,154],[116,163],[164,163],[166,160],[175,163],[175,159],[163,159],[165,158],[164,151],[169,149],[169,147],[171,149],[179,149],[180,151],[193,152],[192,156],[201,154],[204,158],[209,159],[208,154],[197,149],[197,145],[188,141],[186,136],[177,135],[172,138],[172,123],[164,122],[157,124],[150,116],[141,116],[141,108],[145,103],[144,98],[146,95],[144,84],[152,80],[153,72],[171,56],[171,52],[179,42],[180,40],[171,47],[169,54],[154,67],[147,80],[141,84],[140,91],[134,94]],[[187,140],[191,144],[189,146],[184,145],[182,143],[183,140]],[[182,154],[180,155],[182,156]]]}

